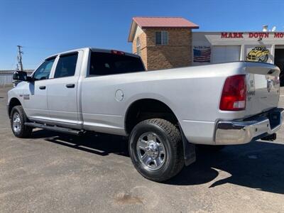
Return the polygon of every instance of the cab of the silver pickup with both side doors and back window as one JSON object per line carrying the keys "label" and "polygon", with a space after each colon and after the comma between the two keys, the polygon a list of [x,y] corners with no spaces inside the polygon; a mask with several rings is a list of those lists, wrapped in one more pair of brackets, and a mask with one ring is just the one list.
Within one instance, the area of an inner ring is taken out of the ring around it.
{"label": "cab of the silver pickup with both side doors and back window", "polygon": [[138,55],[94,48],[72,50],[46,58],[29,81],[9,93],[18,93],[30,121],[83,129],[82,107],[87,106],[80,100],[82,92],[89,92],[84,87],[89,77],[144,70]]}

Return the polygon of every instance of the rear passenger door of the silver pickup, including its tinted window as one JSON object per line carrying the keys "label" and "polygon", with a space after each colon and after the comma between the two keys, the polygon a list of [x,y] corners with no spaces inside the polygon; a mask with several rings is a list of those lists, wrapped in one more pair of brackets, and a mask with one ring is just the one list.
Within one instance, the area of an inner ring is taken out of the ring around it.
{"label": "rear passenger door of the silver pickup, including its tinted window", "polygon": [[77,128],[78,79],[82,52],[58,56],[58,62],[48,84],[48,111],[50,121],[58,126]]}

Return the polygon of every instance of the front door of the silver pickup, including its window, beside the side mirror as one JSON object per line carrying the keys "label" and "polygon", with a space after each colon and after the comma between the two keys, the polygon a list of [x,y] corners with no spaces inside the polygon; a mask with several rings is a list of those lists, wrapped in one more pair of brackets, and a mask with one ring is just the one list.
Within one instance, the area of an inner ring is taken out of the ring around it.
{"label": "front door of the silver pickup, including its window, beside the side mirror", "polygon": [[45,60],[35,72],[32,82],[23,89],[23,105],[27,116],[35,120],[50,119],[48,113],[47,84],[50,73],[55,68],[55,57]]}

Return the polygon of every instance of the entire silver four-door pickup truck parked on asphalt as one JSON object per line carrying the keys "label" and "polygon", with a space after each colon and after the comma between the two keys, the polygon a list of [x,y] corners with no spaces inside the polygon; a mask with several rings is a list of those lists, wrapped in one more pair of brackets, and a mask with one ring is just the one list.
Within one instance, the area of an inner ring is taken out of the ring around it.
{"label": "entire silver four-door pickup truck parked on asphalt", "polygon": [[[13,134],[33,128],[129,136],[133,165],[165,181],[195,161],[195,144],[221,148],[275,138],[280,70],[230,62],[145,72],[138,55],[82,48],[52,55],[8,93]],[[95,141],[94,141],[95,143]]]}

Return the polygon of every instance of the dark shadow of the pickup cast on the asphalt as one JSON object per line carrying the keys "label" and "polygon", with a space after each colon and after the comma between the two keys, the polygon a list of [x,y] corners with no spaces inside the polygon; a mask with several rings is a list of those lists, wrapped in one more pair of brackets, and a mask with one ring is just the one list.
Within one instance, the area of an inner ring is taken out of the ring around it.
{"label": "dark shadow of the pickup cast on the asphalt", "polygon": [[[98,155],[115,153],[129,156],[128,142],[121,136],[87,134],[77,137],[39,130],[34,131],[33,138],[45,138],[46,141]],[[220,170],[228,173],[229,178],[219,180]],[[210,187],[231,183],[284,194],[284,145],[258,141],[227,146],[216,153],[197,149],[197,161],[164,184],[200,185],[215,178],[218,180]]]}

